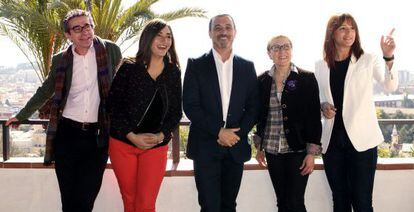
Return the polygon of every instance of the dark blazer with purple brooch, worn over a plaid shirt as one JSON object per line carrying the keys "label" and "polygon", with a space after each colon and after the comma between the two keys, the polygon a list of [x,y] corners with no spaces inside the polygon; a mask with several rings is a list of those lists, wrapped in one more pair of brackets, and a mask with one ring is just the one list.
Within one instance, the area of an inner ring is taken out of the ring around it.
{"label": "dark blazer with purple brooch, worn over a plaid shirt", "polygon": [[[318,84],[311,72],[298,69],[291,72],[282,91],[283,128],[289,147],[306,148],[306,143],[321,145],[321,113]],[[256,126],[257,135],[264,136],[269,111],[272,77],[266,71],[259,76],[261,112]],[[263,140],[262,140],[263,141]]]}

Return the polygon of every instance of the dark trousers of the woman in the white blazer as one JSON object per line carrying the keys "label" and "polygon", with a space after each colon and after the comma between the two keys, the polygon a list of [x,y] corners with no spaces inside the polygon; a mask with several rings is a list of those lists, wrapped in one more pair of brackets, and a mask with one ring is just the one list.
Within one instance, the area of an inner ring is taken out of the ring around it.
{"label": "dark trousers of the woman in the white blazer", "polygon": [[[367,132],[369,133],[369,132]],[[345,130],[334,130],[323,155],[334,212],[372,212],[377,147],[358,152]]]}

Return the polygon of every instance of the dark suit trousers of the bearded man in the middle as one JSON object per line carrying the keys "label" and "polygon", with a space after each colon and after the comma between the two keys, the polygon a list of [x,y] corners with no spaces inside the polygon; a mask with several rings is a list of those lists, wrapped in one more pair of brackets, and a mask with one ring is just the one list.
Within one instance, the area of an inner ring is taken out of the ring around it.
{"label": "dark suit trousers of the bearded man in the middle", "polygon": [[235,162],[227,148],[218,157],[194,160],[194,178],[201,212],[235,212],[243,163]]}

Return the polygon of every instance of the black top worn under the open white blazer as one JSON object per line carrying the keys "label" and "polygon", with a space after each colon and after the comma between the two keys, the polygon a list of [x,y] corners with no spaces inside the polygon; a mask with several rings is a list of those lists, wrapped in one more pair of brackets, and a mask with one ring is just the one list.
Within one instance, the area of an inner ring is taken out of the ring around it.
{"label": "black top worn under the open white blazer", "polygon": [[345,129],[344,120],[342,118],[342,108],[344,102],[345,77],[348,71],[349,61],[351,57],[342,61],[335,61],[335,68],[331,69],[329,80],[331,86],[332,97],[336,108],[334,130]]}

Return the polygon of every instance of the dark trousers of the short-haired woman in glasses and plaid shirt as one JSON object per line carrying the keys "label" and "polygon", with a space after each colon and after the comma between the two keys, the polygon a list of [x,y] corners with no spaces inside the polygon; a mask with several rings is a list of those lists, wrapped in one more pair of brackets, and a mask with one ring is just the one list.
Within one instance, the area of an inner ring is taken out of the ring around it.
{"label": "dark trousers of the short-haired woman in glasses and plaid shirt", "polygon": [[305,212],[305,189],[309,175],[302,176],[299,167],[306,152],[270,154],[267,168],[276,192],[278,212]]}

